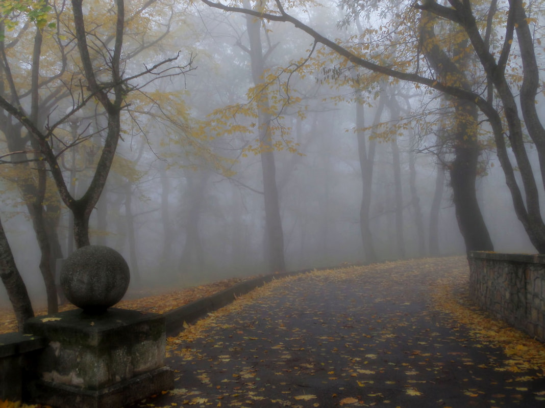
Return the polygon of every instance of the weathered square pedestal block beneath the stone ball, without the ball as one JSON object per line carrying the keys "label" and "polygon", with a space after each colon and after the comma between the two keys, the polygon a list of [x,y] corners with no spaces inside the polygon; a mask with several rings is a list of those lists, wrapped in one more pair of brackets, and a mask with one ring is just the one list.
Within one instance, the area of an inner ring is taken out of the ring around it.
{"label": "weathered square pedestal block beneath the stone ball, without the ball", "polygon": [[28,320],[47,338],[29,381],[29,400],[58,408],[118,408],[173,387],[165,367],[165,319],[110,308],[72,310]]}

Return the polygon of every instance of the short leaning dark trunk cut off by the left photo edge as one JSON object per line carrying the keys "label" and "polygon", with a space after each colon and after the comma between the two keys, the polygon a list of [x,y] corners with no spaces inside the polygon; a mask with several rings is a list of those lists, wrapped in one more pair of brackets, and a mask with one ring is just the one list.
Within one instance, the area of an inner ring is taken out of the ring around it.
{"label": "short leaning dark trunk cut off by the left photo edge", "polygon": [[22,332],[23,324],[34,317],[31,299],[28,297],[27,287],[15,264],[13,253],[5,236],[4,227],[0,220],[0,277],[8,292],[8,297],[17,319],[17,329]]}

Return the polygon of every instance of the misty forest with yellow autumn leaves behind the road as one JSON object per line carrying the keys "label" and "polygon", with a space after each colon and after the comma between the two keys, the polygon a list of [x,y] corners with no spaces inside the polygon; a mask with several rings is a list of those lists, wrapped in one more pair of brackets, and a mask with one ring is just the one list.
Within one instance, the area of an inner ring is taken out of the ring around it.
{"label": "misty forest with yellow autumn leaves behind the road", "polygon": [[1,2],[0,307],[89,244],[135,290],[544,253],[542,6]]}

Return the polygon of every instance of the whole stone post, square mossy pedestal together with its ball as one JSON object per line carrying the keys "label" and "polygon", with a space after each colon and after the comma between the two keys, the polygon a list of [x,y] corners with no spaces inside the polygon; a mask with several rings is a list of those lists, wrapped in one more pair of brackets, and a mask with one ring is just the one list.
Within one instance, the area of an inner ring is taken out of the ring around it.
{"label": "whole stone post, square mossy pedestal together with its ball", "polygon": [[129,286],[118,252],[85,246],[66,259],[60,282],[80,307],[29,319],[47,339],[29,381],[29,400],[58,408],[118,408],[173,387],[165,367],[165,319],[112,308]]}

